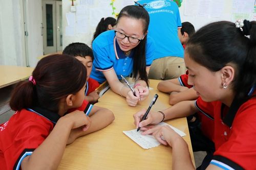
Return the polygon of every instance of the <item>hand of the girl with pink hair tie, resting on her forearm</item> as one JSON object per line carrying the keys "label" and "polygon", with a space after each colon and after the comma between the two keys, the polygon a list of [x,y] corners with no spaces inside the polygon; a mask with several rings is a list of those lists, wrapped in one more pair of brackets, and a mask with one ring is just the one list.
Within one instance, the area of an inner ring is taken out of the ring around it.
{"label": "hand of the girl with pink hair tie, resting on her forearm", "polygon": [[82,131],[87,131],[91,126],[91,119],[83,111],[75,110],[63,116],[72,123],[72,129],[83,126]]}

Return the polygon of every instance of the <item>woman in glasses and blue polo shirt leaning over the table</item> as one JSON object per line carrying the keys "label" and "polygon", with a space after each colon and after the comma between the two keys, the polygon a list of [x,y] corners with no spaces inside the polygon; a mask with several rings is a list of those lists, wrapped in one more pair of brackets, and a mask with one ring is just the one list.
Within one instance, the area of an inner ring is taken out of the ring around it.
{"label": "woman in glasses and blue polo shirt leaning over the table", "polygon": [[[148,95],[147,73],[153,61],[154,41],[147,36],[150,17],[142,6],[126,6],[117,18],[115,30],[100,34],[92,44],[94,61],[91,78],[108,81],[111,89],[136,106]],[[119,80],[133,73],[133,92]]]}

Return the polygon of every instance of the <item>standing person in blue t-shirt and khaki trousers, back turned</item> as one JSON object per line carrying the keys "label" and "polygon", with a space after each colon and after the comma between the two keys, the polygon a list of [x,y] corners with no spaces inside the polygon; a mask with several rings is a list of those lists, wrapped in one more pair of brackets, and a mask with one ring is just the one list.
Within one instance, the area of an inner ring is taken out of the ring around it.
{"label": "standing person in blue t-shirt and khaki trousers, back turned", "polygon": [[155,40],[154,61],[148,77],[167,80],[185,74],[184,49],[178,37],[181,20],[178,5],[170,0],[141,0],[150,14],[148,35]]}

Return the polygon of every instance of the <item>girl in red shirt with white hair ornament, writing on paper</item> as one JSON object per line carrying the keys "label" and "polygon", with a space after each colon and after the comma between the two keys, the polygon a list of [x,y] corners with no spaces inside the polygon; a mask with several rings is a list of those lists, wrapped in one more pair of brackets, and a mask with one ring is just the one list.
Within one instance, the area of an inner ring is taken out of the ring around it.
{"label": "girl in red shirt with white hair ornament, writing on paper", "polygon": [[[248,38],[249,35],[249,38]],[[149,124],[201,111],[214,120],[214,155],[198,169],[256,167],[256,21],[219,21],[197,31],[185,49],[188,84],[200,96],[168,109],[134,115],[136,127],[173,148],[173,169],[195,169],[187,143],[169,127]],[[213,117],[210,117],[213,115]],[[165,139],[165,140],[163,140]]]}

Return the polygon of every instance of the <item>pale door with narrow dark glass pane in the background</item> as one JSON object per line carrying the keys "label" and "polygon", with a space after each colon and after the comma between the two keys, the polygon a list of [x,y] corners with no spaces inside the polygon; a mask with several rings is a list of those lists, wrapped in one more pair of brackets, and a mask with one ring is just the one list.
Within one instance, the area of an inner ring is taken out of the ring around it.
{"label": "pale door with narrow dark glass pane in the background", "polygon": [[42,0],[44,54],[62,50],[61,1]]}

